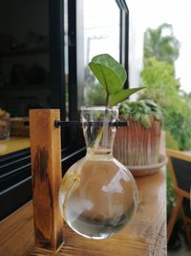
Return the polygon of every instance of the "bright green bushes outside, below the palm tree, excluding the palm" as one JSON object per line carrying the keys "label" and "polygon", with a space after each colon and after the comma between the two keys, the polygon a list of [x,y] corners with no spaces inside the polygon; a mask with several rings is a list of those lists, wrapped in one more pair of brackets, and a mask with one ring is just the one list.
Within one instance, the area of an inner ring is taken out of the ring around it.
{"label": "bright green bushes outside, below the palm tree, excluding the palm", "polygon": [[156,58],[146,59],[141,79],[146,89],[139,99],[154,100],[163,110],[163,128],[171,132],[179,150],[191,150],[191,99],[180,91],[173,67]]}

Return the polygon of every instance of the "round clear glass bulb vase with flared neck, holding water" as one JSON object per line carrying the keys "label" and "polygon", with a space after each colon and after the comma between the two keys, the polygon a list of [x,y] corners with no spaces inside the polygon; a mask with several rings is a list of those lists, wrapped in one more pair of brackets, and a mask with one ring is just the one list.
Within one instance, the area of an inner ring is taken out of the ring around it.
{"label": "round clear glass bulb vase with flared neck, holding water", "polygon": [[112,236],[138,207],[135,179],[113,156],[117,118],[117,106],[81,108],[87,152],[67,171],[60,186],[63,218],[86,238]]}

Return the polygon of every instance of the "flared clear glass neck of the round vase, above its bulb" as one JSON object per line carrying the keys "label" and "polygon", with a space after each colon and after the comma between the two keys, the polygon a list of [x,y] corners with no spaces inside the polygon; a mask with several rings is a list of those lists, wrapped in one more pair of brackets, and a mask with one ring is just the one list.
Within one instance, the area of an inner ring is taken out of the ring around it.
{"label": "flared clear glass neck of the round vase, above its bulb", "polygon": [[112,153],[116,127],[109,124],[115,124],[117,118],[117,106],[81,107],[81,122],[87,153]]}

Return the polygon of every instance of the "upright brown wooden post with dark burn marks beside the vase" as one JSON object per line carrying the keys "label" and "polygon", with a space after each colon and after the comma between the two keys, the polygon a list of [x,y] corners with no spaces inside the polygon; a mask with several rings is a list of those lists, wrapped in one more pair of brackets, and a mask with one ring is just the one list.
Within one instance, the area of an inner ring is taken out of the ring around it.
{"label": "upright brown wooden post with dark burn marks beside the vase", "polygon": [[30,111],[32,196],[35,247],[56,251],[63,243],[58,192],[61,182],[59,109]]}

